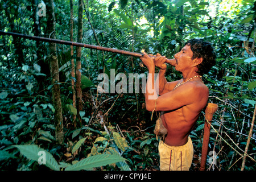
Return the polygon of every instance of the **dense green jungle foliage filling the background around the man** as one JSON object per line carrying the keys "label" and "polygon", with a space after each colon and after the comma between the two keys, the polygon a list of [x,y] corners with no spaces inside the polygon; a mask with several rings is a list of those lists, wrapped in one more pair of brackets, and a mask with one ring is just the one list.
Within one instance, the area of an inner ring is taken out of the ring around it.
{"label": "dense green jungle foliage filling the background around the man", "polygon": [[[203,76],[213,115],[207,170],[256,169],[255,34],[253,0],[53,0],[55,31],[49,26],[50,1],[0,0],[0,30],[79,41],[125,51],[160,53],[172,59],[191,38],[214,47],[217,64]],[[71,8],[72,7],[72,8]],[[72,10],[72,11],[71,11]],[[73,12],[73,22],[71,22]],[[44,14],[45,13],[45,14]],[[73,105],[77,51],[56,44],[59,81],[51,75],[49,43],[0,35],[1,170],[159,170],[157,115],[144,105],[143,93],[100,93],[100,73],[147,73],[139,58],[81,49],[82,109]],[[170,65],[167,80],[181,78]],[[73,80],[73,81],[72,81]],[[118,82],[118,81],[117,81]],[[116,83],[117,83],[116,82]],[[53,88],[60,89],[63,140],[56,141]],[[79,121],[80,119],[80,121]],[[192,171],[199,171],[204,111],[190,137]],[[248,140],[249,138],[249,140]],[[248,142],[249,143],[248,143]],[[216,152],[216,159],[213,158]],[[245,157],[245,154],[246,155]],[[43,157],[46,156],[46,159]],[[42,157],[42,158],[41,158]],[[39,160],[40,159],[40,160]],[[212,162],[211,162],[212,160]],[[243,165],[242,162],[245,161]],[[46,162],[46,163],[44,163]],[[43,165],[43,164],[46,165]],[[42,164],[42,165],[39,165]]]}

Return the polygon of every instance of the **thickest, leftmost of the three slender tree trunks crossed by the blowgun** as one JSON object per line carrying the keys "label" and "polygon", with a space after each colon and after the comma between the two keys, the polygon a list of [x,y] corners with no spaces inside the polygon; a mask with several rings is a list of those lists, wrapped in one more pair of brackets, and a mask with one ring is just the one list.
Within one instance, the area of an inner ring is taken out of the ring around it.
{"label": "thickest, leftmost of the three slender tree trunks crossed by the blowgun", "polygon": [[[46,1],[47,9],[47,34],[52,39],[55,39],[55,14],[53,0]],[[61,144],[63,142],[63,117],[61,109],[60,99],[60,85],[59,83],[59,64],[56,53],[56,43],[49,43],[49,56],[48,60],[50,63],[51,77],[52,77],[52,95],[53,95],[53,106],[55,109],[54,122],[55,122],[55,137],[56,143]]]}

